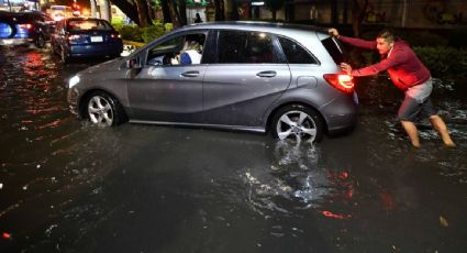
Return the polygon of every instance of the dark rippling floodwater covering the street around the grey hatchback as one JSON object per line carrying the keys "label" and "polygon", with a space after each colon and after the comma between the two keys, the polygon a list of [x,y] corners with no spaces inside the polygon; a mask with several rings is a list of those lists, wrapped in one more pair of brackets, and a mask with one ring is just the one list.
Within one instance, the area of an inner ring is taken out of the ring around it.
{"label": "dark rippling floodwater covering the street around the grey hatchback", "polygon": [[358,85],[358,125],[316,145],[73,117],[46,50],[0,51],[0,252],[465,252],[467,84],[433,100],[457,148],[393,121],[401,94]]}

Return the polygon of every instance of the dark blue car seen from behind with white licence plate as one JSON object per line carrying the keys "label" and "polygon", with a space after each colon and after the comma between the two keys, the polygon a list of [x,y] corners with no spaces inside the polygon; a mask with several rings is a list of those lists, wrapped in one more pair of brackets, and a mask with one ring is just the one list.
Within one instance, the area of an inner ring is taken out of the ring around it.
{"label": "dark blue car seen from behind with white licence plate", "polygon": [[79,57],[118,57],[123,52],[120,34],[102,19],[63,19],[56,25],[51,44],[64,63]]}

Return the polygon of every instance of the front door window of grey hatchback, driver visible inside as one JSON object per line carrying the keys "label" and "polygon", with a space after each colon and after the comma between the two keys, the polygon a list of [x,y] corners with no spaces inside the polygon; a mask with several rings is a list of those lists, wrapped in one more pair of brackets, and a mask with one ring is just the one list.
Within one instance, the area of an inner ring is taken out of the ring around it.
{"label": "front door window of grey hatchback, driver visible inside", "polygon": [[155,45],[147,52],[147,65],[196,65],[202,63],[204,33],[184,34]]}

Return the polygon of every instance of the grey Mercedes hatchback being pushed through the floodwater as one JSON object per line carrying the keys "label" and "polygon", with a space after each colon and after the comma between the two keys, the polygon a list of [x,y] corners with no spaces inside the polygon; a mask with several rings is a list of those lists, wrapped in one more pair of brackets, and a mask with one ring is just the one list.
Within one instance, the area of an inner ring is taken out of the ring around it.
{"label": "grey Mercedes hatchback being pushed through the floodwater", "polygon": [[[196,48],[199,64],[181,65]],[[193,46],[194,45],[194,46]],[[94,124],[193,125],[318,142],[356,123],[357,96],[324,29],[264,22],[175,30],[69,79],[71,111]]]}

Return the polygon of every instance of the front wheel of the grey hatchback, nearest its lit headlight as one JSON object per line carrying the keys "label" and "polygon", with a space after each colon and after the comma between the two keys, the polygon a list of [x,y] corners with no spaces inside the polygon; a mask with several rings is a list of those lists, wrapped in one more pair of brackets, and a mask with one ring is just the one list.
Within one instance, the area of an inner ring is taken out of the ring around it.
{"label": "front wheel of the grey hatchback, nearest its lit headlight", "polygon": [[120,102],[112,96],[96,91],[86,100],[86,116],[91,123],[100,127],[114,127],[126,120]]}

